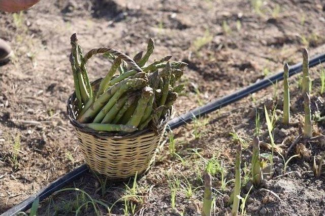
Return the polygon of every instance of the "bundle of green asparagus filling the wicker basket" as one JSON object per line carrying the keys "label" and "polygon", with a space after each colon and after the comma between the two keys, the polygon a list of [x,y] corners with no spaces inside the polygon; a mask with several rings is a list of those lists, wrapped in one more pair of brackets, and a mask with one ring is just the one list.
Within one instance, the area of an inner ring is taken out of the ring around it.
{"label": "bundle of green asparagus filling the wicker basket", "polygon": [[[171,56],[147,63],[154,50],[151,38],[147,51],[139,52],[133,60],[112,48],[92,49],[83,55],[76,34],[71,36],[71,47],[77,120],[84,127],[124,133],[145,129],[157,124],[184,90],[184,84],[176,82],[183,75],[186,63],[170,62]],[[112,66],[99,85],[91,87],[86,63],[99,53]]]}

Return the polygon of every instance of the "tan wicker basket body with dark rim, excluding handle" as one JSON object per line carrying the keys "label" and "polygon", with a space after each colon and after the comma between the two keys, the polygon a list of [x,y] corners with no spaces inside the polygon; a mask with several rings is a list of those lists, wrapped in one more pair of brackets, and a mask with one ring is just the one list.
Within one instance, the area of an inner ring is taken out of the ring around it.
{"label": "tan wicker basket body with dark rim, excluding handle", "polygon": [[[99,84],[101,79],[92,82]],[[81,151],[91,170],[109,179],[122,180],[144,174],[152,166],[172,109],[154,129],[121,136],[83,127],[77,120],[76,95],[68,100],[68,117],[74,126]]]}

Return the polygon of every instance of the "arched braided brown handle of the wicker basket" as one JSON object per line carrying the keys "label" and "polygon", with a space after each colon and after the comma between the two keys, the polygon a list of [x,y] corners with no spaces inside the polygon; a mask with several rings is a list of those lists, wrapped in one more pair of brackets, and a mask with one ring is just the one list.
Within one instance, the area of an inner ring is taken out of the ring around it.
{"label": "arched braided brown handle of the wicker basket", "polygon": [[117,56],[119,58],[121,58],[122,60],[124,60],[126,63],[128,63],[132,68],[134,68],[136,71],[138,72],[143,72],[142,69],[137,65],[137,63],[135,61],[133,61],[130,57],[128,57],[127,55],[125,55],[124,53],[115,50],[113,48],[107,48],[107,47],[101,47],[101,48],[94,48],[92,50],[90,50],[83,58],[83,62],[82,64],[85,65],[87,63],[87,61],[95,54],[98,53],[110,53],[114,56]]}

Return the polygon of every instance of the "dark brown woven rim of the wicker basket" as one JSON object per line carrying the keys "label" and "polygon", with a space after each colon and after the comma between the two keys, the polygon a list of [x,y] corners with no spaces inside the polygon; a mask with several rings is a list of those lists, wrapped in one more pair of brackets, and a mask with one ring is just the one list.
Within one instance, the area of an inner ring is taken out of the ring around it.
{"label": "dark brown woven rim of the wicker basket", "polygon": [[[102,78],[96,79],[91,82],[91,86],[99,84],[100,80]],[[76,101],[76,92],[73,92],[73,94],[70,95],[68,101],[67,101],[67,115],[69,118],[70,123],[75,127],[75,129],[78,129],[78,131],[96,136],[96,137],[104,137],[104,138],[114,138],[114,139],[126,139],[126,138],[134,138],[138,137],[144,134],[151,134],[155,133],[154,130],[150,127],[143,129],[142,131],[135,131],[132,133],[113,133],[113,132],[99,132],[95,131],[94,129],[84,127],[77,119],[76,119],[76,110],[73,109],[73,103]],[[165,125],[167,124],[171,113],[173,112],[173,106],[168,110],[167,114],[161,119],[157,125],[157,131],[160,131],[160,129],[164,128]]]}

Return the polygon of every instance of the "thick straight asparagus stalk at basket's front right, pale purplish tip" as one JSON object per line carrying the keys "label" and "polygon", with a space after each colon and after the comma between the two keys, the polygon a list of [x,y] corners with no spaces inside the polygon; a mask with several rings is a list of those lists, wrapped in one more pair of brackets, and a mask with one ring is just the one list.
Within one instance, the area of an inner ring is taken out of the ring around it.
{"label": "thick straight asparagus stalk at basket's front right, pale purplish tip", "polygon": [[153,95],[152,88],[145,87],[142,90],[141,98],[138,101],[137,108],[135,109],[133,115],[128,120],[126,125],[132,125],[137,127],[140,124],[141,118],[144,115],[145,109],[143,109],[145,106],[147,106],[149,99]]}

